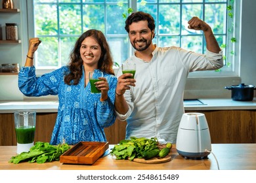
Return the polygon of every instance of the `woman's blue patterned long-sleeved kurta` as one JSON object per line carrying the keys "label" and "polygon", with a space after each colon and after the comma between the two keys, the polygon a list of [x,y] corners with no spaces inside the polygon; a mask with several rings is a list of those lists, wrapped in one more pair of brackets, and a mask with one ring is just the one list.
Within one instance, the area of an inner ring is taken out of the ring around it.
{"label": "woman's blue patterned long-sleeved kurta", "polygon": [[[100,101],[100,93],[91,93],[91,84],[85,87],[85,76],[79,84],[64,83],[67,66],[40,77],[35,67],[22,67],[18,75],[18,87],[26,96],[58,95],[58,116],[51,137],[51,144],[76,144],[80,141],[106,141],[104,127],[114,124],[114,101],[117,78],[104,73],[109,88],[108,99]],[[43,130],[43,129],[40,129]]]}

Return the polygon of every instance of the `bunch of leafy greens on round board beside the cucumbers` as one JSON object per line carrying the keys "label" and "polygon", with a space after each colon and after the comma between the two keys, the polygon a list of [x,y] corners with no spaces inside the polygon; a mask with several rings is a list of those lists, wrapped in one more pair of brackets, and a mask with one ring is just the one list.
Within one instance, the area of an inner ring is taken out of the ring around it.
{"label": "bunch of leafy greens on round board beside the cucumbers", "polygon": [[110,154],[116,156],[116,159],[129,159],[133,161],[135,158],[142,158],[144,152],[150,152],[158,148],[158,139],[146,139],[144,137],[131,137],[131,140],[122,140],[115,145]]}

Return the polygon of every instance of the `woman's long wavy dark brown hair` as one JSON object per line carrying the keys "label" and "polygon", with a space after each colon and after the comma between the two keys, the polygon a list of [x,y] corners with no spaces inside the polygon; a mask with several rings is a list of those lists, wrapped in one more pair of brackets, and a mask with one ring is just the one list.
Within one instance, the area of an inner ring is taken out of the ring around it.
{"label": "woman's long wavy dark brown hair", "polygon": [[75,42],[75,47],[70,54],[70,62],[68,63],[70,66],[70,73],[68,73],[68,75],[66,75],[64,78],[64,82],[68,85],[78,84],[81,76],[83,75],[83,59],[81,59],[80,56],[80,48],[81,43],[87,37],[93,37],[93,39],[95,39],[95,41],[100,45],[101,55],[98,61],[98,69],[104,73],[114,75],[114,69],[112,68],[113,59],[110,52],[110,47],[106,41],[106,37],[101,31],[96,29],[89,29],[77,39]]}

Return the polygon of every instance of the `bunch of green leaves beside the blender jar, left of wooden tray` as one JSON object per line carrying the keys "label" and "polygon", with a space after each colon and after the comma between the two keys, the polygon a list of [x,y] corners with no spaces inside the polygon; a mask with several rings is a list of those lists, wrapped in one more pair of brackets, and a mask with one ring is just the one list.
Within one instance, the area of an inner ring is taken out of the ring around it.
{"label": "bunch of green leaves beside the blender jar, left of wooden tray", "polygon": [[51,145],[49,142],[35,142],[29,152],[22,152],[16,156],[12,156],[9,163],[18,164],[23,161],[29,163],[45,163],[47,161],[59,161],[60,155],[70,149],[68,144]]}

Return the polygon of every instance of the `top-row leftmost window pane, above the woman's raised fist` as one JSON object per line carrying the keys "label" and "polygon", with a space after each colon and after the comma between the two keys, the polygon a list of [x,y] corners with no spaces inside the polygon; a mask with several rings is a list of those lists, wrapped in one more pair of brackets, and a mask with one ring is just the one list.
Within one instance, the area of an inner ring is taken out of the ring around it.
{"label": "top-row leftmost window pane, above the woman's raised fist", "polygon": [[[56,5],[35,6],[35,34],[58,35]],[[47,13],[45,13],[47,12]],[[51,14],[51,16],[49,16]]]}

